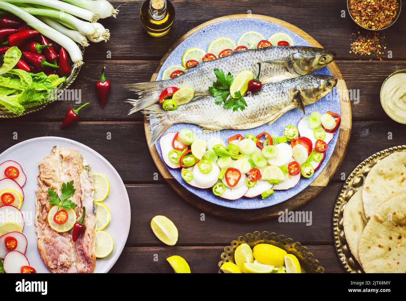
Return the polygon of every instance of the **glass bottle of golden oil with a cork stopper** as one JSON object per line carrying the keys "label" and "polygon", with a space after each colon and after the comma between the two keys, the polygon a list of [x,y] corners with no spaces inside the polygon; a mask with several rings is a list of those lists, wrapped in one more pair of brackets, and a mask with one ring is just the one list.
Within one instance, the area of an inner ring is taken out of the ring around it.
{"label": "glass bottle of golden oil with a cork stopper", "polygon": [[175,9],[168,0],[147,0],[141,6],[140,18],[147,34],[162,37],[172,27]]}

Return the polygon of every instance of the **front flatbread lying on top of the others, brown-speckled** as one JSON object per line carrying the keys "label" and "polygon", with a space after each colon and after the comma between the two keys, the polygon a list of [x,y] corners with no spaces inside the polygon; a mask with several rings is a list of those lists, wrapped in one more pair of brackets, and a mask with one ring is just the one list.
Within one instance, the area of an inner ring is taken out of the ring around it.
{"label": "front flatbread lying on top of the others, brown-speckled", "polygon": [[358,256],[365,273],[406,273],[406,194],[378,208],[361,234]]}

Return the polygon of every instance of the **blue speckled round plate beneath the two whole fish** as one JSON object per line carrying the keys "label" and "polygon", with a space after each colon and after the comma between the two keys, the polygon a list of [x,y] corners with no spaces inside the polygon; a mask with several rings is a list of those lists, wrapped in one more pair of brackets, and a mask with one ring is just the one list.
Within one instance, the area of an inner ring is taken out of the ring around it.
{"label": "blue speckled round plate beneath the two whole fish", "polygon": [[[307,41],[305,41],[302,37],[296,35],[294,32],[282,26],[273,24],[271,22],[266,22],[258,19],[226,20],[218,22],[216,24],[209,25],[190,35],[190,37],[186,38],[182,43],[180,43],[172,51],[172,53],[168,56],[168,58],[162,65],[156,79],[161,80],[163,71],[166,68],[170,67],[171,65],[182,65],[182,56],[187,49],[192,47],[198,47],[207,51],[209,44],[214,39],[217,39],[219,37],[229,37],[230,39],[235,41],[235,43],[237,43],[238,39],[244,32],[251,30],[261,33],[266,39],[268,39],[271,35],[273,35],[276,32],[285,32],[290,37],[292,37],[294,45],[303,45],[303,46],[310,45]],[[323,69],[317,71],[317,74],[331,75],[327,67],[324,67]],[[337,88],[334,88],[333,91],[331,92],[331,95],[328,95],[328,99],[323,98],[318,102],[316,102],[315,104],[306,106],[307,113],[310,113],[315,110],[319,111],[320,113],[326,113],[326,111],[333,111],[335,113],[340,114],[341,113],[340,101],[337,93]],[[245,136],[246,134],[254,134],[256,136],[261,132],[268,132],[272,136],[273,135],[281,136],[285,126],[289,124],[297,126],[299,120],[302,117],[303,113],[296,108],[282,115],[279,119],[277,119],[274,123],[272,123],[271,126],[266,124],[258,128],[253,128],[251,130],[221,130],[220,132],[216,132],[216,137],[217,136],[220,137],[227,144],[227,140],[229,139],[229,137],[234,136],[236,134],[242,134],[242,136]],[[180,123],[171,126],[166,132],[179,132],[183,128],[189,128],[196,133],[199,133],[202,130],[199,126],[196,125]],[[175,178],[182,186],[184,186],[186,189],[188,189],[198,197],[201,197],[202,199],[209,201],[211,203],[238,209],[264,208],[286,201],[287,199],[290,199],[294,195],[304,190],[307,186],[309,186],[311,182],[313,182],[315,178],[317,178],[317,176],[322,172],[324,167],[326,167],[328,160],[330,160],[330,157],[333,154],[335,145],[337,143],[338,134],[339,130],[335,132],[333,140],[330,141],[330,143],[328,144],[326,158],[322,162],[321,167],[315,172],[315,174],[311,178],[306,179],[302,177],[295,187],[285,191],[275,191],[272,197],[269,197],[268,199],[264,200],[261,199],[261,197],[254,198],[242,197],[240,199],[236,199],[233,201],[222,199],[221,197],[217,197],[216,195],[214,195],[212,189],[200,189],[187,184],[181,178],[180,169],[172,169],[168,167],[168,170],[173,176],[173,178]],[[201,135],[200,138],[208,140],[209,136]],[[156,149],[158,150],[158,154],[162,159],[159,141],[155,144],[155,146]]]}

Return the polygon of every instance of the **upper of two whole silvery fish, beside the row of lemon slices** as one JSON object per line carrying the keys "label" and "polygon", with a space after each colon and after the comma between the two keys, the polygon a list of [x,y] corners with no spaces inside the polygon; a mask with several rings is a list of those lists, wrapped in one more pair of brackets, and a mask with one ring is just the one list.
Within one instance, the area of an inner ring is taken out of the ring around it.
{"label": "upper of two whole silvery fish, beside the row of lemon slices", "polygon": [[138,98],[129,99],[134,106],[129,114],[158,102],[159,95],[167,87],[190,87],[194,89],[196,96],[207,94],[209,87],[217,80],[213,71],[216,68],[226,74],[230,72],[233,76],[245,70],[256,76],[258,63],[261,63],[261,82],[276,82],[311,74],[331,63],[335,55],[323,48],[307,46],[275,46],[236,51],[232,55],[194,65],[185,74],[170,80],[127,85],[130,90],[135,91]]}

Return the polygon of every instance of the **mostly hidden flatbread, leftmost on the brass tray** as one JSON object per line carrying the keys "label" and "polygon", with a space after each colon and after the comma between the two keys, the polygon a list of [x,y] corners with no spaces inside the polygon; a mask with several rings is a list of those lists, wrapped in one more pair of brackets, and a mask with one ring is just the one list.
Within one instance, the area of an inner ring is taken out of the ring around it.
{"label": "mostly hidden flatbread, leftmost on the brass tray", "polygon": [[344,234],[350,251],[358,262],[358,242],[367,221],[362,204],[361,188],[348,201],[343,213]]}

